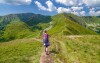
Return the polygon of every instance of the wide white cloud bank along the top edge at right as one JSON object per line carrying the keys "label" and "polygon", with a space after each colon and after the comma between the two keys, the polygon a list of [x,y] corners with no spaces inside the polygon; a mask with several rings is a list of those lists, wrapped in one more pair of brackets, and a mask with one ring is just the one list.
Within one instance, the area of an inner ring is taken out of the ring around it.
{"label": "wide white cloud bank along the top edge at right", "polygon": [[81,6],[86,4],[87,6],[100,7],[100,0],[55,0],[57,3],[66,6]]}

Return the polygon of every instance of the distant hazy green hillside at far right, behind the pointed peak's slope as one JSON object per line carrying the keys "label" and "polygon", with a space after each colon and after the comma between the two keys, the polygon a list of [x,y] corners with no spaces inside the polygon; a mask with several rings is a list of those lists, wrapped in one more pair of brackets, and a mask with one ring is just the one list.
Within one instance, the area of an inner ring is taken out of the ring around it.
{"label": "distant hazy green hillside at far right, behind the pointed peak's slope", "polygon": [[65,14],[64,16],[82,26],[85,28],[88,28],[90,30],[93,30],[97,33],[100,33],[100,18],[99,16],[76,16],[73,14]]}

